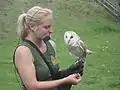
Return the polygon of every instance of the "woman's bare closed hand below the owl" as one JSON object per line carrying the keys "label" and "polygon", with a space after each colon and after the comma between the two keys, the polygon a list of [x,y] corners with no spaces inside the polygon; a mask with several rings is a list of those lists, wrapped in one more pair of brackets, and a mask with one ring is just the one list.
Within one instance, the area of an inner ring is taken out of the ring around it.
{"label": "woman's bare closed hand below the owl", "polygon": [[81,76],[79,73],[71,74],[68,77],[65,77],[65,82],[69,84],[78,84],[81,81]]}

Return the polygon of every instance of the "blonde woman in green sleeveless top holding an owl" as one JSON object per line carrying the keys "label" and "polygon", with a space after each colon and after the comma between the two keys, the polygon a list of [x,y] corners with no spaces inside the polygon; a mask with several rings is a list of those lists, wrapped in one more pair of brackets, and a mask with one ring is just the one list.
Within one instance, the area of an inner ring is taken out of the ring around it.
{"label": "blonde woman in green sleeveless top holding an owl", "polygon": [[59,76],[54,49],[49,41],[44,40],[53,33],[50,9],[34,6],[21,14],[18,31],[22,43],[15,50],[14,64],[23,90],[58,90],[60,85],[80,82],[79,73]]}

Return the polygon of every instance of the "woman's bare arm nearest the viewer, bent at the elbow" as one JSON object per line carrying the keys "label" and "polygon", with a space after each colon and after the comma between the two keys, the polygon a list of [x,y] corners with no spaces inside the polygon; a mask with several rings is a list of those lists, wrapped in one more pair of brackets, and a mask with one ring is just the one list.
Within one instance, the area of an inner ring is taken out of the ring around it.
{"label": "woman's bare arm nearest the viewer, bent at the elbow", "polygon": [[78,84],[80,81],[80,76],[78,74],[73,74],[59,80],[37,81],[33,61],[33,56],[27,47],[20,46],[17,48],[15,64],[28,90],[48,89],[64,83]]}

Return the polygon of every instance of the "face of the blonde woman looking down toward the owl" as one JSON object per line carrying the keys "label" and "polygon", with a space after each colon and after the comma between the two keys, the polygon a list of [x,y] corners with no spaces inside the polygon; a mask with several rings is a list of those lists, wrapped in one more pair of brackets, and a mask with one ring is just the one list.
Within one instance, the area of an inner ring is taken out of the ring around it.
{"label": "face of the blonde woman looking down toward the owl", "polygon": [[42,24],[36,25],[35,33],[40,39],[50,36],[52,32],[52,18],[46,18]]}

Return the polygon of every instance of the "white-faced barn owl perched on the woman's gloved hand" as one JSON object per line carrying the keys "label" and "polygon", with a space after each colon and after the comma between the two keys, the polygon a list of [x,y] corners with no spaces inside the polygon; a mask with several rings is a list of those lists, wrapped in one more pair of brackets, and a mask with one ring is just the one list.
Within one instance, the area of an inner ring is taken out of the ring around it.
{"label": "white-faced barn owl perched on the woman's gloved hand", "polygon": [[70,55],[80,58],[83,54],[88,55],[93,53],[91,50],[86,48],[84,42],[74,31],[66,31],[64,33],[64,41],[68,47]]}

